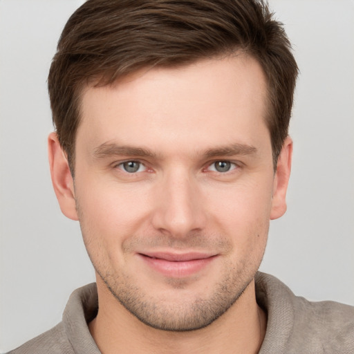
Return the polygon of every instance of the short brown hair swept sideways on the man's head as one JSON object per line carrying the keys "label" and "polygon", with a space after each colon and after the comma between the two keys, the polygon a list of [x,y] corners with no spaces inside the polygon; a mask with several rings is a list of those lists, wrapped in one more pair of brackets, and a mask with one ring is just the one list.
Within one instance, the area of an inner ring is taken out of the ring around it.
{"label": "short brown hair swept sideways on the man's head", "polygon": [[288,125],[297,64],[283,25],[257,0],[88,0],[70,17],[48,76],[59,142],[75,165],[80,94],[143,67],[182,66],[237,50],[261,64],[274,168]]}

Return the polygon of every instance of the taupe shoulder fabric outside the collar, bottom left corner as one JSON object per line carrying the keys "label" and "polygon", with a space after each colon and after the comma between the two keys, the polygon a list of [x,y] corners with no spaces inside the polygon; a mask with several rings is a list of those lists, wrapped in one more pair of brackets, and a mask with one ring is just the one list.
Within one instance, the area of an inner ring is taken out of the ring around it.
{"label": "taupe shoulder fabric outside the collar, bottom left corner", "polygon": [[8,354],[75,354],[62,322]]}

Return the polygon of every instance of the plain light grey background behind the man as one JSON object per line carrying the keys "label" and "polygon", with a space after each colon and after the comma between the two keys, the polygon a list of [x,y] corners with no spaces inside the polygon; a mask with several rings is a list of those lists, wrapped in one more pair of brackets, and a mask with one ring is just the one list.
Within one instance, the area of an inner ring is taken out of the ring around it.
{"label": "plain light grey background behind the man", "polygon": [[[79,0],[0,0],[0,352],[60,321],[94,280],[80,227],[62,216],[46,156],[46,76]],[[312,300],[354,305],[354,2],[272,0],[301,69],[288,212],[261,270]]]}

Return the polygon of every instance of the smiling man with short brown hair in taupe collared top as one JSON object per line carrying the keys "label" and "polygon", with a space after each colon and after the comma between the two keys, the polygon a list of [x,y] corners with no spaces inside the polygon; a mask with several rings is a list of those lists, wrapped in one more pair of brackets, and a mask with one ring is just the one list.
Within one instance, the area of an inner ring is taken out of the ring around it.
{"label": "smiling man with short brown hair in taupe collared top", "polygon": [[297,65],[254,1],[87,1],[48,78],[50,171],[95,285],[12,353],[351,353],[350,306],[257,273]]}

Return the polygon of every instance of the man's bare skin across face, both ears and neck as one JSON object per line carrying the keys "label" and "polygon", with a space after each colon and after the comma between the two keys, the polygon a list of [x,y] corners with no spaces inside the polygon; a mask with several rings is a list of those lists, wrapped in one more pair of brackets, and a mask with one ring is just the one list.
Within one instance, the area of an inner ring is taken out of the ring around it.
{"label": "man's bare skin across face, both ears and neck", "polygon": [[102,353],[259,351],[254,274],[270,219],[286,211],[292,153],[287,138],[274,174],[266,99],[245,55],[87,87],[75,183],[50,134],[59,205],[80,221],[96,270],[89,328]]}

